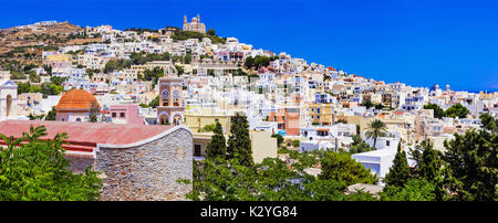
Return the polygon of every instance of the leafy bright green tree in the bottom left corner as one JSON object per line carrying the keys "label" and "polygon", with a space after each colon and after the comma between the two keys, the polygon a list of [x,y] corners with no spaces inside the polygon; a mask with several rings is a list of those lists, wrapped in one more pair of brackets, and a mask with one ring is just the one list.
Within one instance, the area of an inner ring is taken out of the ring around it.
{"label": "leafy bright green tree in the bottom left corner", "polygon": [[[85,174],[69,170],[62,148],[66,134],[51,140],[43,126],[13,139],[0,134],[7,148],[0,150],[0,201],[92,201],[100,197],[102,181],[86,168]],[[21,144],[25,141],[27,144]]]}

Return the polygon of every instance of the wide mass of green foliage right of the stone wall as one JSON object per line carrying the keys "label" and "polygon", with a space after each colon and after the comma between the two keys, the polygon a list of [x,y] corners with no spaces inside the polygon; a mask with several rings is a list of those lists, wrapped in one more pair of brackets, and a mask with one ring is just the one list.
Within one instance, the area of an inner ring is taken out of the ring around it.
{"label": "wide mass of green foliage right of the stone wall", "polygon": [[[204,159],[194,162],[191,200],[207,201],[354,201],[373,200],[371,194],[344,194],[344,184],[330,179],[317,179],[304,169],[319,156],[290,151],[295,162],[266,158],[253,167],[237,159]],[[184,183],[190,183],[184,180]]]}

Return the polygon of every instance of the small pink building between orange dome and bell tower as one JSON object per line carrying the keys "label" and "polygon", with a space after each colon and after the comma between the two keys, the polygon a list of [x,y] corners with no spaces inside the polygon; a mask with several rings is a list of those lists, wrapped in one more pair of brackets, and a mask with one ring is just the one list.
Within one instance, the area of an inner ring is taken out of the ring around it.
{"label": "small pink building between orange dome and bell tower", "polygon": [[114,124],[144,125],[145,118],[139,115],[138,105],[111,105],[108,114]]}

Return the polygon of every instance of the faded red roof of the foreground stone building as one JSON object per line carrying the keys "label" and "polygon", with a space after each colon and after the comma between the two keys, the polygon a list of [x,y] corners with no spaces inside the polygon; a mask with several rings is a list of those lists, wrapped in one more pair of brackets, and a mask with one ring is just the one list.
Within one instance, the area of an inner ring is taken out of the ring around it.
{"label": "faded red roof of the foreground stone building", "polygon": [[[124,124],[92,124],[66,123],[42,120],[4,120],[0,121],[0,132],[19,138],[22,132],[29,132],[30,126],[44,126],[48,136],[40,139],[52,139],[58,132],[68,132],[69,139],[64,140],[71,146],[64,146],[68,150],[92,151],[97,144],[128,145],[157,136],[173,126],[144,126]],[[0,139],[1,141],[1,139]]]}

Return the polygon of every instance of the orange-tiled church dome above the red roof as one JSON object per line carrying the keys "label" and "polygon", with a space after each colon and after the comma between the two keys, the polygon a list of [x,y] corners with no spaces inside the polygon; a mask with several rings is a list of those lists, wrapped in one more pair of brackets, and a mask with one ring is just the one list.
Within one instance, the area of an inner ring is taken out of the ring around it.
{"label": "orange-tiled church dome above the red roof", "polygon": [[101,107],[95,96],[86,91],[73,88],[61,97],[55,109],[90,109],[92,107]]}

